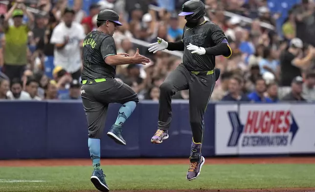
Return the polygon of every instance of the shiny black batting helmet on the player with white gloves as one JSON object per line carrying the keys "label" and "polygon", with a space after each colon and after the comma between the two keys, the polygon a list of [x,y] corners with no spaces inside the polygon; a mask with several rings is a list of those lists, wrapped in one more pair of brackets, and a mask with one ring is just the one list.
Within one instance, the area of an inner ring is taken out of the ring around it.
{"label": "shiny black batting helmet on the player with white gloves", "polygon": [[199,20],[205,15],[205,6],[200,0],[188,0],[181,7],[179,16],[186,16],[186,20]]}

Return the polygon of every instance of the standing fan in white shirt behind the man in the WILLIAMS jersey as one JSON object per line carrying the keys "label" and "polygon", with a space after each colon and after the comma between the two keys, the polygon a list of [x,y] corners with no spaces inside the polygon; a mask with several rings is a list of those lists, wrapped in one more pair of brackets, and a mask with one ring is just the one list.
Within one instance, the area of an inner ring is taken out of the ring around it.
{"label": "standing fan in white shirt behind the man in the WILLIAMS jersey", "polygon": [[55,45],[54,65],[71,73],[73,79],[79,79],[82,41],[86,35],[83,26],[73,22],[74,15],[72,9],[65,9],[63,22],[54,28],[50,43]]}

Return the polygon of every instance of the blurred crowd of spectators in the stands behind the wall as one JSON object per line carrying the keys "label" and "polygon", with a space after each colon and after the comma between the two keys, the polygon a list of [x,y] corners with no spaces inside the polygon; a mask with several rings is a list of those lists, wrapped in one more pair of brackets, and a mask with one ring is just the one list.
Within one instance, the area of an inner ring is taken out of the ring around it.
{"label": "blurred crowd of spectators in the stands behind the wall", "polygon": [[[118,66],[116,80],[130,85],[140,99],[158,100],[159,85],[182,59],[163,51],[149,53],[137,41],[180,40],[185,20],[178,13],[185,1],[10,0],[0,4],[0,99],[80,99],[82,40],[96,28],[98,12],[109,8],[119,13],[123,24],[113,35],[117,52],[133,55],[139,48],[152,61],[144,66]],[[230,58],[216,57],[221,76],[212,101],[315,100],[312,0],[203,2],[206,20],[225,31],[232,49]],[[187,90],[173,96],[188,98]]]}

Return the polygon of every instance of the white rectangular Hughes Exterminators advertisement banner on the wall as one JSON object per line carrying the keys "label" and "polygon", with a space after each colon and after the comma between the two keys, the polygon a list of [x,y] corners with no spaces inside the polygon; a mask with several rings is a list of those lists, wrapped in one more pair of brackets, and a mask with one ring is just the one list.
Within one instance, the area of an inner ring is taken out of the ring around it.
{"label": "white rectangular Hughes Exterminators advertisement banner on the wall", "polygon": [[315,152],[315,104],[248,103],[233,108],[216,106],[217,155]]}

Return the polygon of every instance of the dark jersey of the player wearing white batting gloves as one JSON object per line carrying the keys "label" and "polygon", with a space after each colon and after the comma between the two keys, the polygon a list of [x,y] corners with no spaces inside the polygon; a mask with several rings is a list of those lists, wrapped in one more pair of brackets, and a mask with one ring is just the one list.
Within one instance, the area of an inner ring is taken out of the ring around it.
{"label": "dark jersey of the player wearing white batting gloves", "polygon": [[188,71],[210,71],[215,67],[214,55],[198,55],[191,53],[191,50],[187,49],[187,46],[192,45],[209,48],[220,44],[223,40],[226,40],[223,30],[213,22],[205,21],[199,26],[190,28],[184,26],[184,32],[182,42],[184,43],[184,55],[183,65]]}

